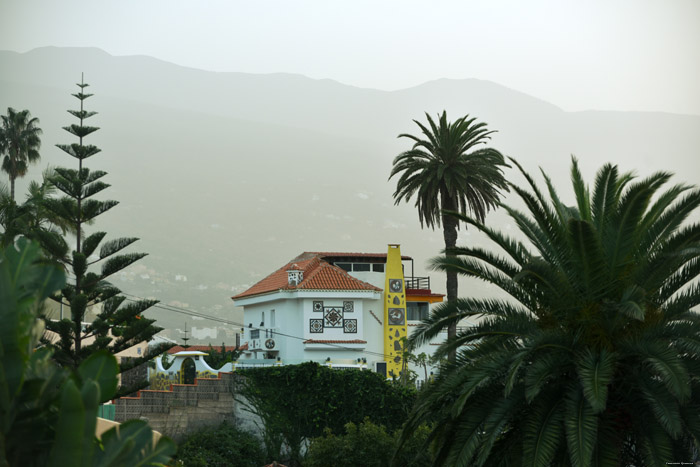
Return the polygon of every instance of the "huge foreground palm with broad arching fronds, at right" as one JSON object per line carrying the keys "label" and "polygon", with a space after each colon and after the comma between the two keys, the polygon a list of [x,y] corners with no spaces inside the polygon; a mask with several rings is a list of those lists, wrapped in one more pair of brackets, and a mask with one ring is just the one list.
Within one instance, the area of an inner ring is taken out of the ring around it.
{"label": "huge foreground palm with broad arching fronds, at right", "polygon": [[[515,161],[513,161],[515,162]],[[517,165],[517,163],[516,163]],[[439,348],[459,349],[405,428],[436,420],[438,465],[666,465],[700,448],[700,190],[661,190],[603,166],[592,191],[575,159],[576,205],[545,175],[548,198],[512,186],[528,214],[505,207],[522,238],[458,216],[496,249],[459,248],[438,269],[507,298],[436,307],[412,336],[481,318]]]}

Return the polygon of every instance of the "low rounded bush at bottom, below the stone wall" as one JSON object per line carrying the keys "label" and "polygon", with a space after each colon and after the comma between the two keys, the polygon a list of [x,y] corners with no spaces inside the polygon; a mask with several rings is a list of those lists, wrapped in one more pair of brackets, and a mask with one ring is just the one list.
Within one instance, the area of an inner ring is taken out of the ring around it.
{"label": "low rounded bush at bottom, below the stone wall", "polygon": [[190,435],[178,447],[177,459],[183,467],[259,467],[265,454],[255,436],[222,424]]}

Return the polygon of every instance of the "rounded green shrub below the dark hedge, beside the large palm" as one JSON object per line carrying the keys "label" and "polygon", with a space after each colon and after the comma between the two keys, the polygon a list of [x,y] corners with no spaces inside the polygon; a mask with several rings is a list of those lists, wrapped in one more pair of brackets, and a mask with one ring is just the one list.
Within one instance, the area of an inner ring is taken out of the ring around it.
{"label": "rounded green shrub below the dark hedge, beside the large palm", "polygon": [[344,435],[334,435],[330,429],[323,437],[311,440],[304,458],[305,467],[382,467],[390,465],[392,455],[395,465],[405,467],[424,466],[432,463],[429,450],[425,449],[430,429],[420,426],[396,451],[400,431],[389,434],[381,425],[369,418],[356,425],[347,423]]}

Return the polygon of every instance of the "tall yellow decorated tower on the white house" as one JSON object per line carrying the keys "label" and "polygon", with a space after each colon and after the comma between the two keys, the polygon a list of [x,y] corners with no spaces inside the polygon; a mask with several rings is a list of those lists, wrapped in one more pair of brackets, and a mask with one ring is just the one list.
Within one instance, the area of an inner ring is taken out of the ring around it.
{"label": "tall yellow decorated tower on the white house", "polygon": [[399,377],[403,369],[406,328],[406,283],[399,245],[389,245],[384,273],[384,359],[387,377]]}

